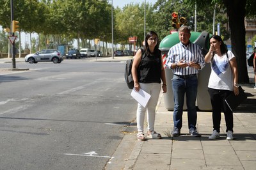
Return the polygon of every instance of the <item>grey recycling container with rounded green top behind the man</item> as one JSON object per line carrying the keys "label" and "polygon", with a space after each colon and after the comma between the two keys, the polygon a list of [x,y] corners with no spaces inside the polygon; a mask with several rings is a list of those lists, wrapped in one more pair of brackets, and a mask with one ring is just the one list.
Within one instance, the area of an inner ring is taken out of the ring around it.
{"label": "grey recycling container with rounded green top behind the man", "polygon": [[[209,50],[209,33],[203,31],[199,32],[191,32],[190,42],[196,43],[200,47],[202,47],[203,54],[207,54]],[[173,45],[179,43],[179,34],[172,33],[163,38],[161,43],[159,44],[159,49],[162,52],[163,62],[165,63],[165,59],[167,58],[168,51]],[[211,65],[209,63],[205,63],[205,67],[202,70],[199,70],[198,73],[198,93],[196,98],[196,106],[201,111],[211,111],[211,100],[209,97],[209,93],[207,91],[207,85],[209,81],[209,76],[211,73]],[[166,74],[166,83],[167,83],[167,92],[164,93],[164,106],[168,111],[173,111],[174,102],[173,102],[173,92],[172,92],[172,77],[173,72],[169,68],[165,68]],[[187,109],[186,105],[186,95],[184,98],[184,106],[183,109]]]}

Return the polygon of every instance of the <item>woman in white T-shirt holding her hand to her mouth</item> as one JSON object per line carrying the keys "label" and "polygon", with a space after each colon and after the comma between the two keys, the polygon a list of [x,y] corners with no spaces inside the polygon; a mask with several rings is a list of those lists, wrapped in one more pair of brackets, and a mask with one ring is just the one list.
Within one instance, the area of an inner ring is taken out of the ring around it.
{"label": "woman in white T-shirt holding her hand to her mouth", "polygon": [[211,62],[211,75],[208,83],[208,92],[212,104],[213,132],[209,139],[220,138],[221,111],[226,121],[227,140],[233,140],[233,112],[225,103],[231,93],[238,95],[238,73],[234,54],[227,50],[223,40],[218,35],[210,38],[210,49],[205,56],[205,62]]}

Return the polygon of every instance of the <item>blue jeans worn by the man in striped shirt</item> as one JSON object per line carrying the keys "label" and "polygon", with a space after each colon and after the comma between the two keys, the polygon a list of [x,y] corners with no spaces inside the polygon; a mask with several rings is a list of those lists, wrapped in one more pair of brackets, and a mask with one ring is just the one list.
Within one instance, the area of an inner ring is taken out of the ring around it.
{"label": "blue jeans worn by the man in striped shirt", "polygon": [[179,76],[173,75],[172,90],[174,97],[173,121],[174,127],[182,127],[182,113],[184,105],[184,96],[186,93],[186,102],[188,107],[188,128],[189,130],[196,129],[196,94],[197,94],[197,76]]}

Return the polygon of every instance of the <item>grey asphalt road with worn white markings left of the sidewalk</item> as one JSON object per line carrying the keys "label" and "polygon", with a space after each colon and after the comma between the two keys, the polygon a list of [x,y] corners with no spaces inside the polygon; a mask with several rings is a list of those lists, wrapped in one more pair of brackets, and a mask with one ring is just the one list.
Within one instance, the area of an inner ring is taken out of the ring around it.
{"label": "grey asphalt road with worn white markings left of the sidewalk", "polygon": [[0,72],[0,169],[104,169],[135,118],[124,65],[66,59]]}

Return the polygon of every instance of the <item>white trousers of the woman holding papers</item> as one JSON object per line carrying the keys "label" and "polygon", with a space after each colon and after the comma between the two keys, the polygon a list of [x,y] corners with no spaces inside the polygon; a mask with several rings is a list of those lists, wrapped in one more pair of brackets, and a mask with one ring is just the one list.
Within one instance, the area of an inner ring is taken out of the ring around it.
{"label": "white trousers of the woman holding papers", "polygon": [[136,114],[138,132],[143,132],[146,111],[147,111],[148,131],[152,131],[154,130],[154,124],[156,119],[156,105],[157,105],[159,93],[161,90],[161,84],[160,83],[140,83],[140,88],[146,91],[147,93],[149,93],[151,97],[148,101],[146,108],[138,103],[137,114]]}

